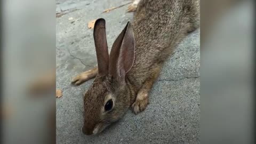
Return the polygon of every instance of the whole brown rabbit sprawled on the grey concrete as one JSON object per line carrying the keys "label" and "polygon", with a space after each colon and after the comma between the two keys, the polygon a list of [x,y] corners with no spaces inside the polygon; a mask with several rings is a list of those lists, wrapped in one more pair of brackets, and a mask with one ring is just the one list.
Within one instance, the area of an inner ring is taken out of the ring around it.
{"label": "whole brown rabbit sprawled on the grey concrete", "polygon": [[84,134],[97,134],[132,106],[145,110],[164,60],[188,32],[199,27],[199,0],[141,0],[134,22],[116,38],[110,55],[105,20],[95,22],[98,68],[78,75],[76,85],[95,77],[84,95]]}

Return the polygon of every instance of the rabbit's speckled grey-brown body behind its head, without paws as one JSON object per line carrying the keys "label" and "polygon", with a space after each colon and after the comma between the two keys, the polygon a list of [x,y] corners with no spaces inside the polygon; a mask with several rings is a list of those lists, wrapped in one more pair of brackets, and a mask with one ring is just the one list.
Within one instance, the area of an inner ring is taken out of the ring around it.
{"label": "rabbit's speckled grey-brown body behind its head, without paws", "polygon": [[141,85],[199,27],[199,0],[141,0],[132,26],[135,61],[129,76]]}

